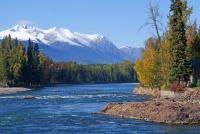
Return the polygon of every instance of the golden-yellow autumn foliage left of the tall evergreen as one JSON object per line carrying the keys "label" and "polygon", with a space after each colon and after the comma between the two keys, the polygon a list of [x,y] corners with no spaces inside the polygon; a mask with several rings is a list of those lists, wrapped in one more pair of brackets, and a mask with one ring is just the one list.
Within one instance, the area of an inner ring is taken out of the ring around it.
{"label": "golden-yellow autumn foliage left of the tall evergreen", "polygon": [[160,88],[169,82],[169,43],[166,39],[158,42],[149,38],[143,56],[135,62],[134,69],[140,84],[144,87]]}

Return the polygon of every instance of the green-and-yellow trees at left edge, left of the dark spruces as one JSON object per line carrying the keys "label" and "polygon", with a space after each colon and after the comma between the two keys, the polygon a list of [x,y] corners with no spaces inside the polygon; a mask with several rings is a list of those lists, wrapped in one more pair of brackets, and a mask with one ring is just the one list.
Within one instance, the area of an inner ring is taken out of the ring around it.
{"label": "green-and-yellow trees at left edge, left of the dark spruces", "polygon": [[23,67],[26,62],[25,48],[11,36],[5,37],[0,45],[0,71],[2,86],[23,85]]}

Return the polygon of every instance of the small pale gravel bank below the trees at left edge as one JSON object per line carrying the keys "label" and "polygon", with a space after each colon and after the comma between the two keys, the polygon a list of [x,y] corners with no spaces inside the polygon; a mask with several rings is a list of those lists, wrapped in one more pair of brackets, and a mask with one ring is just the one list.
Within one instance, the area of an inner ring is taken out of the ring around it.
{"label": "small pale gravel bank below the trees at left edge", "polygon": [[6,94],[14,94],[18,92],[25,92],[30,91],[32,89],[30,88],[24,88],[24,87],[0,87],[0,95],[6,95]]}

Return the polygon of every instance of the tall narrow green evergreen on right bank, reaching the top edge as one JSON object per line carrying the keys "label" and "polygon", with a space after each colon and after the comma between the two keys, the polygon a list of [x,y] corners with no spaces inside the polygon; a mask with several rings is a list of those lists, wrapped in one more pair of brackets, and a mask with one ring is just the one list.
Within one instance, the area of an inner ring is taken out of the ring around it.
{"label": "tall narrow green evergreen on right bank, reaching the top edge", "polygon": [[186,53],[186,23],[187,1],[172,0],[169,16],[170,36],[170,80],[172,82],[187,84],[191,74],[191,65]]}

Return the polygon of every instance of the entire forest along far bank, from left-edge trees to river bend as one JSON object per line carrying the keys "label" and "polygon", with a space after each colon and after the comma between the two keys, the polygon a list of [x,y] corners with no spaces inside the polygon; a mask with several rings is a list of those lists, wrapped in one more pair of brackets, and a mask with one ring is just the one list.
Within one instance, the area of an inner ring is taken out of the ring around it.
{"label": "entire forest along far bank, from left-edge trees to river bend", "polygon": [[0,86],[35,87],[55,83],[135,82],[133,64],[81,65],[55,62],[46,57],[37,43],[24,45],[11,36],[0,44]]}

